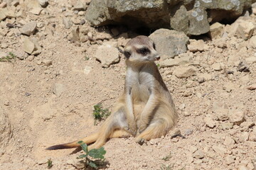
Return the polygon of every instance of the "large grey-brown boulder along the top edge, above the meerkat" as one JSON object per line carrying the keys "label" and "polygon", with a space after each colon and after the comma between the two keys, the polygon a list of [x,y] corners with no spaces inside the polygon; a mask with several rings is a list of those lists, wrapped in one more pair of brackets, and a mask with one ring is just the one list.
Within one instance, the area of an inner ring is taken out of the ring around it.
{"label": "large grey-brown boulder along the top edge, above the meerkat", "polygon": [[122,23],[201,35],[210,30],[209,22],[234,21],[251,4],[252,0],[92,0],[85,18],[92,26]]}

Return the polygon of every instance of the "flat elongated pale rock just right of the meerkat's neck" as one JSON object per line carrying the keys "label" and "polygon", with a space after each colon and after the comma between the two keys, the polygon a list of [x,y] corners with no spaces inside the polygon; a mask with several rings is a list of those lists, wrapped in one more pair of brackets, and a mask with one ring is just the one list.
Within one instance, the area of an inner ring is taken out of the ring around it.
{"label": "flat elongated pale rock just right of the meerkat's neck", "polygon": [[175,57],[174,59],[166,59],[159,62],[160,67],[174,67],[181,64],[188,64],[191,62],[191,57]]}

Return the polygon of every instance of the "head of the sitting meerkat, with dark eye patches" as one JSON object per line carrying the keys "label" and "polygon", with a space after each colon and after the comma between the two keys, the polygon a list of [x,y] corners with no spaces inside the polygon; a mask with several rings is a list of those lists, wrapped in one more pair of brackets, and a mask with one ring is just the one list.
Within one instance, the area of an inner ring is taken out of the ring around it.
{"label": "head of the sitting meerkat, with dark eye patches", "polygon": [[160,59],[153,40],[143,35],[127,42],[124,47],[124,56],[130,62],[154,62]]}

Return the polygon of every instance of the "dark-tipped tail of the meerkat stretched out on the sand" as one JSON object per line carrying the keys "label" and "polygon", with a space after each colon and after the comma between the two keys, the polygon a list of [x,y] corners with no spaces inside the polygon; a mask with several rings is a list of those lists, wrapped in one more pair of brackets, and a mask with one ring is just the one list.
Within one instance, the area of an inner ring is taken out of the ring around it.
{"label": "dark-tipped tail of the meerkat stretched out on the sand", "polygon": [[74,147],[80,147],[80,145],[78,144],[79,141],[85,142],[88,145],[88,144],[91,144],[92,142],[95,142],[97,140],[97,137],[98,137],[98,133],[94,133],[88,137],[84,137],[74,142],[60,144],[60,145],[53,145],[51,147],[46,148],[46,150],[69,149]]}

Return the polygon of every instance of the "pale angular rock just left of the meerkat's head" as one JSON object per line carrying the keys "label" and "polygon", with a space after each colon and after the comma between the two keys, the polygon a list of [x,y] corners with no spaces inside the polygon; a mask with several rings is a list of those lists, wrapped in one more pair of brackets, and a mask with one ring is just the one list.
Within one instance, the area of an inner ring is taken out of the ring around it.
{"label": "pale angular rock just left of the meerkat's head", "polygon": [[120,60],[117,48],[111,45],[100,45],[94,56],[102,64],[102,67],[110,67],[111,64],[117,63]]}

